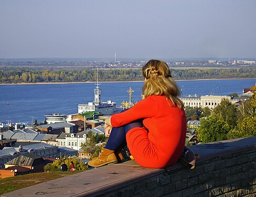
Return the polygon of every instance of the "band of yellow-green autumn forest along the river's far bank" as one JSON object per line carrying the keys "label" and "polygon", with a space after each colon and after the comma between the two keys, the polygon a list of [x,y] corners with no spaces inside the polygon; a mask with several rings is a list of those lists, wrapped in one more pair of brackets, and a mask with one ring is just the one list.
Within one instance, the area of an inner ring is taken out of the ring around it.
{"label": "band of yellow-green autumn forest along the river's far bank", "polygon": [[[255,78],[256,68],[239,69],[170,69],[175,79],[211,79],[211,78]],[[100,69],[101,81],[143,80],[141,69]],[[74,82],[96,81],[96,69],[49,70],[21,69],[0,70],[0,83],[21,82]]]}

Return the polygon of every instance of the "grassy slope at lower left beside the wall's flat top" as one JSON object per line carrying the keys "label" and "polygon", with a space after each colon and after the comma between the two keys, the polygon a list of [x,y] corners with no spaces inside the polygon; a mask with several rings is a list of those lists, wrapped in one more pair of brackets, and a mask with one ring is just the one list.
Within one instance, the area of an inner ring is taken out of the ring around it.
{"label": "grassy slope at lower left beside the wall's flat top", "polygon": [[35,185],[38,183],[66,177],[81,171],[56,171],[56,172],[41,172],[33,174],[18,175],[16,177],[9,177],[0,179],[0,195],[14,190],[26,188],[27,186]]}

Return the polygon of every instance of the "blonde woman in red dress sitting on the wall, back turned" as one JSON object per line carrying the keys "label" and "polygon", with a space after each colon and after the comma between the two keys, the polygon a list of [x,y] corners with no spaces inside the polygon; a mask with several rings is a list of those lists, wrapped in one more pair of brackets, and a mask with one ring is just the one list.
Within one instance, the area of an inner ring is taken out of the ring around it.
{"label": "blonde woman in red dress sitting on the wall, back turned", "polygon": [[99,157],[89,161],[91,167],[118,162],[126,143],[142,167],[164,168],[179,159],[187,128],[180,91],[163,61],[148,61],[142,72],[145,99],[106,119],[105,136],[109,139]]}

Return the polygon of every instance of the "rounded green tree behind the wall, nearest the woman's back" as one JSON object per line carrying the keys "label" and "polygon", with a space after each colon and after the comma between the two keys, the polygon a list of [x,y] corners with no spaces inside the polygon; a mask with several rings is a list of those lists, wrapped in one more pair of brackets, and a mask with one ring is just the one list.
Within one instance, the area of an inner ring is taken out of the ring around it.
{"label": "rounded green tree behind the wall, nearest the woman's back", "polygon": [[202,143],[226,140],[229,130],[228,123],[221,116],[213,113],[211,116],[201,119],[197,129],[198,140]]}

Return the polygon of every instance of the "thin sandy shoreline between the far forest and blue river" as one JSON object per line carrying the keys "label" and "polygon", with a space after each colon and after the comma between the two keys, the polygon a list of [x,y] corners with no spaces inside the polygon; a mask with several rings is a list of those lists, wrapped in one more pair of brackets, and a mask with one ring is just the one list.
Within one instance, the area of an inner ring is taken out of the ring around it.
{"label": "thin sandy shoreline between the far forest and blue river", "polygon": [[[204,81],[204,80],[237,80],[237,79],[256,79],[256,78],[223,78],[223,79],[176,79],[175,81]],[[0,84],[0,85],[53,85],[53,84],[95,84],[97,81],[86,82],[38,82],[38,83],[18,83],[18,84]],[[125,82],[144,82],[144,81],[99,81],[99,83],[125,83]]]}

